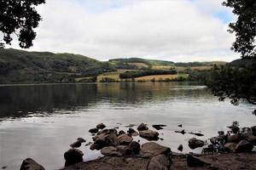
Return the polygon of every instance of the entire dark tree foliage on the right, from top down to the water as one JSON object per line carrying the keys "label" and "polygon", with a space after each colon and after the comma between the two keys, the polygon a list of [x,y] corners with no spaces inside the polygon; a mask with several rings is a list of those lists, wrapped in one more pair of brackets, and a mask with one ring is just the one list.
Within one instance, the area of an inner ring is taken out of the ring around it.
{"label": "entire dark tree foliage on the right, from top down to the water", "polygon": [[236,33],[232,49],[241,54],[241,60],[236,63],[245,65],[215,67],[207,85],[220,100],[230,98],[232,104],[238,105],[240,99],[245,99],[256,105],[256,1],[226,0],[223,5],[233,8],[237,15],[229,31]]}

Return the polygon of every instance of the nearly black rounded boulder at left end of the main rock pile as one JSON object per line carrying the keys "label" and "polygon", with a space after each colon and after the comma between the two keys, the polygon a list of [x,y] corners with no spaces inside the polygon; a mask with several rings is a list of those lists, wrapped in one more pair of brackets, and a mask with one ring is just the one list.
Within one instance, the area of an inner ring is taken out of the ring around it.
{"label": "nearly black rounded boulder at left end of the main rock pile", "polygon": [[66,160],[65,167],[68,167],[83,161],[83,156],[84,154],[81,150],[78,150],[78,149],[67,150],[67,152],[65,152],[64,154],[64,158]]}

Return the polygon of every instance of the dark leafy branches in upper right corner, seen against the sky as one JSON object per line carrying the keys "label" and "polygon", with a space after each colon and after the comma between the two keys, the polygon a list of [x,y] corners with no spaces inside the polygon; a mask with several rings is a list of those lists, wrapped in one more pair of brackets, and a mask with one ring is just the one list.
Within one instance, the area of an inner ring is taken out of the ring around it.
{"label": "dark leafy branches in upper right corner, seen against the sky", "polygon": [[235,23],[230,23],[230,32],[236,32],[236,42],[232,49],[241,53],[242,58],[256,58],[256,1],[226,0],[224,6],[233,8],[237,15]]}

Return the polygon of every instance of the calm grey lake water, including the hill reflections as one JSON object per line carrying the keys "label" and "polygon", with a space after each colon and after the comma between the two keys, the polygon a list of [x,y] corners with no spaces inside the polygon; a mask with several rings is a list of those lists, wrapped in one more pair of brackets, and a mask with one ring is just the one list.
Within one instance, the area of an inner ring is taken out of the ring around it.
{"label": "calm grey lake water, including the hill reflections", "polygon": [[[219,102],[205,86],[186,82],[2,86],[0,167],[19,169],[26,157],[47,169],[63,167],[69,144],[78,137],[92,141],[88,130],[99,122],[119,130],[140,122],[152,129],[152,124],[166,124],[159,131],[163,140],[157,142],[176,152],[183,144],[183,152],[189,152],[188,140],[195,136],[174,131],[201,132],[205,136],[197,138],[208,139],[233,121],[241,127],[255,125],[254,109],[246,103]],[[84,160],[100,156],[84,144],[80,150]]]}

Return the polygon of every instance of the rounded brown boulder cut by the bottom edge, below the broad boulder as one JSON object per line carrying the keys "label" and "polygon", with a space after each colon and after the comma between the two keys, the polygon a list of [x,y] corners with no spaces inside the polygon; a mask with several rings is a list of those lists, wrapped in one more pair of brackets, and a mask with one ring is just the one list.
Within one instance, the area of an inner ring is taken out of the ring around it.
{"label": "rounded brown boulder cut by the bottom edge, below the broad boulder", "polygon": [[171,160],[165,155],[154,156],[148,164],[148,170],[169,170]]}

